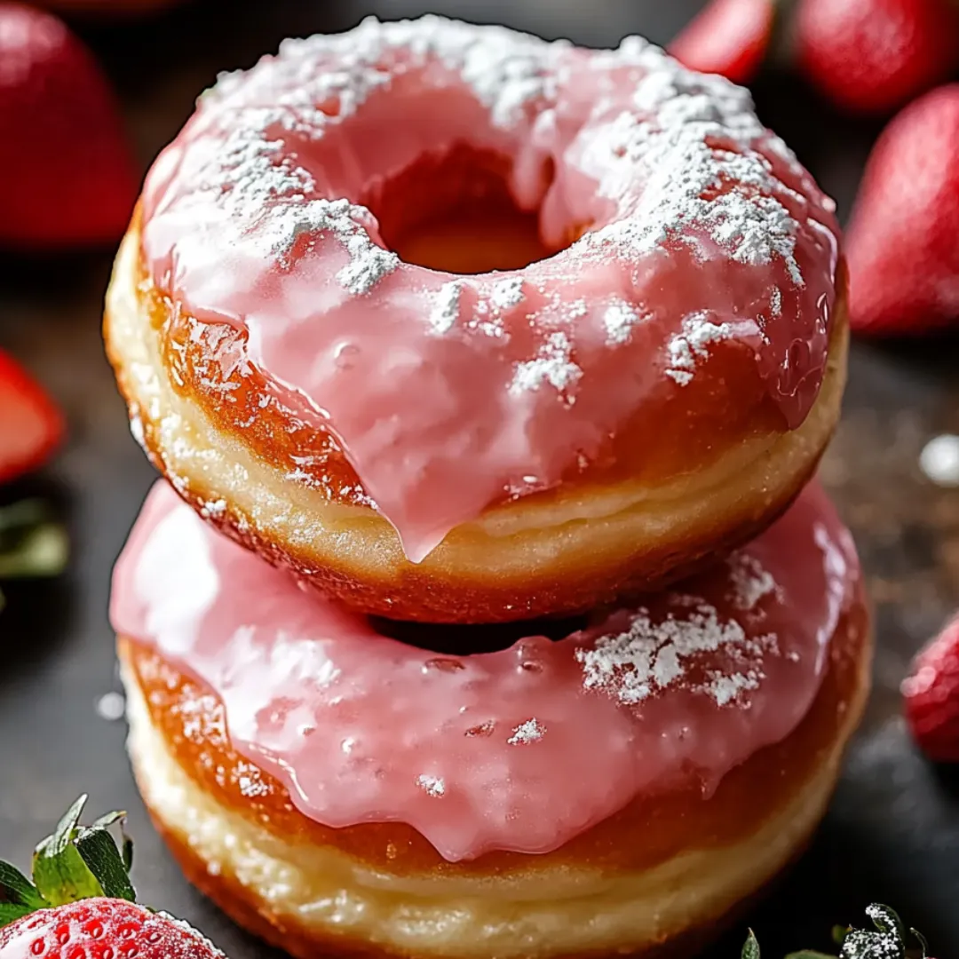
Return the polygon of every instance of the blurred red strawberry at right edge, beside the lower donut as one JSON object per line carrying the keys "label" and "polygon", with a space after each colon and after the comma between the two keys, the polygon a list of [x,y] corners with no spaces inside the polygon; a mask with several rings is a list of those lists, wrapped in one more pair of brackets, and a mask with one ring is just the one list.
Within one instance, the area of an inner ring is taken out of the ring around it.
{"label": "blurred red strawberry at right edge, beside the lower donut", "polygon": [[959,762],[959,616],[916,657],[902,695],[919,748],[935,762]]}

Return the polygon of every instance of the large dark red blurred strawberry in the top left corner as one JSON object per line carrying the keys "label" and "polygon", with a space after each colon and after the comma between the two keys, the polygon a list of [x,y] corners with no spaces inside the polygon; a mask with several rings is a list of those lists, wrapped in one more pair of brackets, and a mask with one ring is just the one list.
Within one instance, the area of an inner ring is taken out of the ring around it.
{"label": "large dark red blurred strawberry in the top left corner", "polygon": [[136,189],[92,55],[52,14],[0,2],[0,244],[114,241]]}

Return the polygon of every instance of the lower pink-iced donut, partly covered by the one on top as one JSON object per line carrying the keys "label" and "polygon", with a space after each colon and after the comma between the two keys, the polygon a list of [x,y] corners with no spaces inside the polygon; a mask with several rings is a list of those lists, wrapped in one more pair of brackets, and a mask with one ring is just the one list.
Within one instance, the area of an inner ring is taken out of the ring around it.
{"label": "lower pink-iced donut, partly covered by the one on top", "polygon": [[814,484],[669,591],[477,630],[351,611],[161,482],[111,621],[158,829],[300,959],[688,955],[802,850],[869,683]]}

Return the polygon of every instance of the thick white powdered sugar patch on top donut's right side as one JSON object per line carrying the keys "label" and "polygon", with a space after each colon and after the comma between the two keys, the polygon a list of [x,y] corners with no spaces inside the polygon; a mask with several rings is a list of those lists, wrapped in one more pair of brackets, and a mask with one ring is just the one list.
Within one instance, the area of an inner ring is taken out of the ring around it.
{"label": "thick white powdered sugar patch on top donut's right side", "polygon": [[799,223],[785,205],[793,195],[765,152],[790,171],[798,163],[762,128],[749,93],[692,73],[650,45],[634,42],[620,56],[645,72],[633,108],[591,131],[587,165],[600,172],[599,189],[618,200],[621,215],[590,242],[648,252],[678,241],[703,256],[718,247],[754,266],[780,258],[803,286],[795,257]]}

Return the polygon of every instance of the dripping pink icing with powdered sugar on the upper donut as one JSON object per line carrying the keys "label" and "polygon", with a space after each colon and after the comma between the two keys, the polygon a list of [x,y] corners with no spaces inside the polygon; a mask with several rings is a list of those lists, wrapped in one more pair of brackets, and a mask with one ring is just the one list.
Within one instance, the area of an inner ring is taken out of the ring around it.
{"label": "dripping pink icing with powdered sugar on the upper donut", "polygon": [[[508,161],[559,252],[456,276],[385,248],[363,204],[463,145]],[[588,51],[367,20],[288,40],[201,98],[148,177],[142,247],[176,308],[243,333],[225,373],[256,369],[338,437],[415,561],[490,503],[588,469],[726,351],[753,356],[801,423],[825,363],[832,209],[745,90],[639,37]]]}

